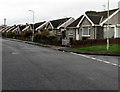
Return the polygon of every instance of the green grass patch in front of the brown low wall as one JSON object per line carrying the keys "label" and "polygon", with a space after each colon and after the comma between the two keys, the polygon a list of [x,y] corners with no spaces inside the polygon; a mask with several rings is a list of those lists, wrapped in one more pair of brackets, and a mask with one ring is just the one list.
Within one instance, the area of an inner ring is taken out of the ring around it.
{"label": "green grass patch in front of the brown low wall", "polygon": [[77,50],[96,51],[96,52],[120,52],[120,44],[110,45],[109,51],[107,51],[106,45],[77,48]]}

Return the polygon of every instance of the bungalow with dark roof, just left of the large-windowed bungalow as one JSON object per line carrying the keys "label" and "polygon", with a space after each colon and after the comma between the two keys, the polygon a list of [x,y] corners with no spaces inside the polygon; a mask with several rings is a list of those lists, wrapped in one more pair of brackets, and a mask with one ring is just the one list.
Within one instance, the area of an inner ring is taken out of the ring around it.
{"label": "bungalow with dark roof, just left of the large-windowed bungalow", "polygon": [[66,27],[74,21],[74,18],[62,18],[52,20],[48,22],[46,29],[51,35],[57,36],[58,38],[64,38],[66,33]]}

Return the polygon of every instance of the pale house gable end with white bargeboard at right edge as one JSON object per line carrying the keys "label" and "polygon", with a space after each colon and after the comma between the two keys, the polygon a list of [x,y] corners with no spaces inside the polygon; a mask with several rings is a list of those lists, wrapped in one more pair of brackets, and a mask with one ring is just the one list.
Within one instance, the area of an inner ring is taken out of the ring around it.
{"label": "pale house gable end with white bargeboard at right edge", "polygon": [[[107,29],[109,19],[109,29]],[[119,9],[110,10],[109,18],[100,23],[103,26],[104,38],[120,38],[120,11]],[[109,30],[109,31],[108,31]]]}

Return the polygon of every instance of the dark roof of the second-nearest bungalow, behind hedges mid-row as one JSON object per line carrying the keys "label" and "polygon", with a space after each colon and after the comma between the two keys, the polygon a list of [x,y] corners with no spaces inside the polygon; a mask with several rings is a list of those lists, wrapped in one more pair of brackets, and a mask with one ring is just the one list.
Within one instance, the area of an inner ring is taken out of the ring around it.
{"label": "dark roof of the second-nearest bungalow, behind hedges mid-row", "polygon": [[63,19],[52,20],[50,22],[54,28],[57,28],[58,26],[62,25],[63,23],[65,23],[69,19],[70,18],[63,18]]}

